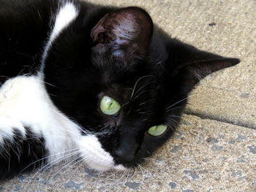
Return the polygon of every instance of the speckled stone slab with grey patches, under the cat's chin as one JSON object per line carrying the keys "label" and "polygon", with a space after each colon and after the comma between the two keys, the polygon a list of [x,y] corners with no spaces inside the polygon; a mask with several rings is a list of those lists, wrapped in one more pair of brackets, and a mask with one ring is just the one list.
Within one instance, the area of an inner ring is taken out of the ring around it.
{"label": "speckled stone slab with grey patches, under the cat's chin", "polygon": [[[136,169],[88,177],[84,170],[95,173],[80,164],[53,177],[56,167],[1,183],[1,191],[256,191],[254,129],[193,115],[183,119],[166,145]],[[177,137],[180,133],[183,137]],[[173,153],[171,146],[181,148]]]}

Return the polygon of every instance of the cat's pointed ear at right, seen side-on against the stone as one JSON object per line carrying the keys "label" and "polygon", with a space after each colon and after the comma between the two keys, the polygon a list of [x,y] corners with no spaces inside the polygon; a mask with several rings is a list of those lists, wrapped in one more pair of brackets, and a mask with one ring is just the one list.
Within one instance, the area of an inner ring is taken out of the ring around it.
{"label": "cat's pointed ear at right, seen side-on against the stone", "polygon": [[176,77],[182,79],[187,88],[192,88],[208,74],[234,66],[240,62],[238,58],[225,58],[197,50],[195,47],[188,46],[183,50],[185,55],[180,58],[179,56],[176,57],[176,69],[173,71]]}

